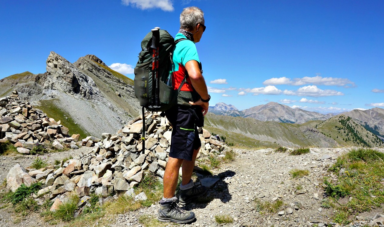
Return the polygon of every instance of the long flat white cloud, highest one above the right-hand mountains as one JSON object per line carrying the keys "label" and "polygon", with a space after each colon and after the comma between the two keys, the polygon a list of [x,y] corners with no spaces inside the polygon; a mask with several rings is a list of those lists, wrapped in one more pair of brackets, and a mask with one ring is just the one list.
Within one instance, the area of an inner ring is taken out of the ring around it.
{"label": "long flat white cloud, highest one above the right-hand mountains", "polygon": [[355,83],[347,78],[336,77],[322,77],[322,76],[304,76],[303,78],[286,78],[285,76],[280,78],[271,78],[263,82],[263,85],[326,85],[326,86],[344,86],[345,88],[355,87]]}

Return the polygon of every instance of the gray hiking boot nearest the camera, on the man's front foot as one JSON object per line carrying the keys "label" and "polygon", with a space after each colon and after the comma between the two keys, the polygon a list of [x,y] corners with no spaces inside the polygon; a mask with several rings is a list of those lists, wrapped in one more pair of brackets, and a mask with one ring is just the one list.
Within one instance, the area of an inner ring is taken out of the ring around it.
{"label": "gray hiking boot nearest the camera, on the man's front foot", "polygon": [[179,224],[186,224],[195,220],[195,213],[181,209],[176,201],[176,197],[167,199],[166,202],[161,200],[160,210],[159,213],[157,213],[157,220]]}

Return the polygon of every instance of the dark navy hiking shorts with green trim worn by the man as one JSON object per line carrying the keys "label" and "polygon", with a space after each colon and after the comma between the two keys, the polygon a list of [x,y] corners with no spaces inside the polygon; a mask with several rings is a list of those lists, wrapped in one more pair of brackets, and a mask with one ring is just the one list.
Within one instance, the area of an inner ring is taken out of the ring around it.
{"label": "dark navy hiking shorts with green trim worn by the man", "polygon": [[169,157],[192,160],[193,151],[201,146],[196,116],[202,113],[198,112],[199,109],[182,105],[166,111],[167,119],[172,124]]}

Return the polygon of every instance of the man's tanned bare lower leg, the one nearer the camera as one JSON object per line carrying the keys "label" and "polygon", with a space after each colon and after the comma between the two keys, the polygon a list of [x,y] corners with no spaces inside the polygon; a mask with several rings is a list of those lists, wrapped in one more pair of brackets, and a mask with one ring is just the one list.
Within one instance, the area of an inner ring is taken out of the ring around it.
{"label": "man's tanned bare lower leg, the one nearer the camera", "polygon": [[164,172],[164,198],[175,196],[177,181],[179,179],[179,169],[184,159],[169,157],[166,171]]}

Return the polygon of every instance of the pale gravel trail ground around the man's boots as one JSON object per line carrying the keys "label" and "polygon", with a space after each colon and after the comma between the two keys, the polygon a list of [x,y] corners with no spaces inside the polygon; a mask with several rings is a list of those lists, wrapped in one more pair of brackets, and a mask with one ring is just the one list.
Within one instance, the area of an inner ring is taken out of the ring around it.
{"label": "pale gravel trail ground around the man's boots", "polygon": [[[384,149],[379,149],[384,152]],[[197,220],[188,227],[242,227],[242,226],[311,226],[317,224],[334,224],[329,217],[330,211],[321,208],[323,190],[321,178],[328,175],[330,164],[346,148],[311,148],[311,153],[291,156],[288,153],[275,153],[272,149],[261,150],[235,150],[238,156],[235,161],[221,166],[213,171],[215,178],[220,180],[209,190],[209,202],[204,204],[189,204],[184,207],[195,212]],[[71,152],[71,151],[68,151]],[[74,153],[63,153],[63,157]],[[56,153],[55,153],[56,154]],[[53,156],[51,156],[52,159]],[[58,159],[57,157],[52,160]],[[26,161],[31,162],[31,159]],[[15,160],[16,161],[16,160]],[[13,160],[11,161],[13,163]],[[2,161],[3,164],[3,161]],[[10,164],[9,166],[12,167]],[[1,167],[9,167],[2,165]],[[24,166],[24,165],[23,165]],[[309,176],[292,179],[291,169],[303,169],[310,171]],[[2,171],[4,172],[4,171]],[[4,173],[1,173],[2,176]],[[5,175],[4,175],[5,176]],[[332,176],[331,176],[332,177]],[[336,177],[336,176],[334,176]],[[298,185],[302,189],[297,190]],[[255,200],[273,202],[281,199],[283,207],[274,213],[260,214],[255,206]],[[156,218],[159,204],[143,208],[135,212],[117,215],[111,218],[109,226],[143,226],[138,222],[141,215],[149,215]],[[383,210],[376,210],[383,213]],[[364,219],[371,219],[374,212],[361,214]],[[231,224],[217,224],[215,216],[229,215],[233,218]],[[46,226],[38,215],[29,215],[14,224],[12,215],[5,209],[0,209],[0,226]],[[20,219],[20,217],[18,217]],[[61,226],[61,224],[56,225]],[[96,226],[90,224],[89,226]],[[160,223],[159,226],[167,226]],[[174,224],[168,224],[174,226]],[[355,224],[354,226],[360,226]]]}

